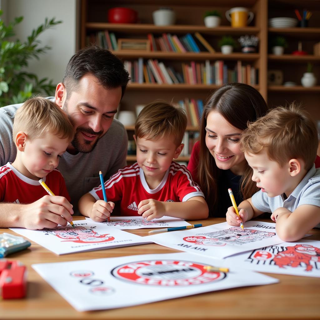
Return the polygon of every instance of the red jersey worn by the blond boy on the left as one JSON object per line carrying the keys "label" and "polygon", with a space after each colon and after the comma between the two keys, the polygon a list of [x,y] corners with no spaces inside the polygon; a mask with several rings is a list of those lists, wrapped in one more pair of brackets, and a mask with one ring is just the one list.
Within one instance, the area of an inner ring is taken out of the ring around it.
{"label": "red jersey worn by the blond boy on the left", "polygon": [[[64,196],[70,201],[66,183],[58,169],[54,169],[43,180],[56,196]],[[0,202],[29,204],[47,194],[38,180],[25,177],[10,162],[0,167]]]}

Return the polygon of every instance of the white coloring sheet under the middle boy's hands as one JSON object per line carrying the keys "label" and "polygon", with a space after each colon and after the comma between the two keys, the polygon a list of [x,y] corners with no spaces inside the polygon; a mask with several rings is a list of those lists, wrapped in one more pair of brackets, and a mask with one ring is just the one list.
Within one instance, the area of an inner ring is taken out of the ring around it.
{"label": "white coloring sheet under the middle boy's hands", "polygon": [[[87,220],[93,221],[86,217]],[[185,220],[173,217],[163,216],[160,219],[153,219],[151,221],[137,217],[110,217],[110,222],[100,222],[107,226],[114,227],[120,230],[134,230],[142,228],[171,228],[171,227],[183,227],[190,226],[190,223]]]}

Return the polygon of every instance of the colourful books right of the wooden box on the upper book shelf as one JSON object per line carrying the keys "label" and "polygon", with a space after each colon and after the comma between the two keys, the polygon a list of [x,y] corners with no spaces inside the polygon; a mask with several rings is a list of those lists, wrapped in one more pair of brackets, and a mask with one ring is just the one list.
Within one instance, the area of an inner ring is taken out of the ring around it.
{"label": "colourful books right of the wooden box on the upper book shelf", "polygon": [[155,37],[148,34],[151,51],[165,52],[215,52],[213,47],[204,39],[204,37],[196,32],[194,36],[187,33],[185,36],[178,37],[170,33],[163,33],[162,36]]}

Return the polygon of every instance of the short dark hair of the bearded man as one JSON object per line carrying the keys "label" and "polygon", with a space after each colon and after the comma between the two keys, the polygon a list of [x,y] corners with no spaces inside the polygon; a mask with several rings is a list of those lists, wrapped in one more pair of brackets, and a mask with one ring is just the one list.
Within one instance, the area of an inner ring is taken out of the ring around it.
{"label": "short dark hair of the bearded man", "polygon": [[92,74],[106,89],[121,87],[121,98],[130,80],[123,62],[106,49],[98,46],[85,47],[77,51],[69,60],[62,83],[67,89],[67,99],[76,91],[79,81],[86,74]]}

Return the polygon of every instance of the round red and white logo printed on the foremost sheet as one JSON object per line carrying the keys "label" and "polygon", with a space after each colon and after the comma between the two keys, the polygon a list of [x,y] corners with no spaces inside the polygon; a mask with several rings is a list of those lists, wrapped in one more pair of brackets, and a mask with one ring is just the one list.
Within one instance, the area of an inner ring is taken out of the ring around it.
{"label": "round red and white logo printed on the foremost sheet", "polygon": [[205,266],[190,261],[146,260],[120,265],[111,274],[136,284],[172,287],[205,284],[226,277],[223,272],[207,272]]}

